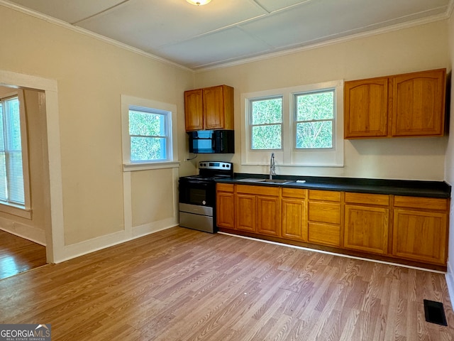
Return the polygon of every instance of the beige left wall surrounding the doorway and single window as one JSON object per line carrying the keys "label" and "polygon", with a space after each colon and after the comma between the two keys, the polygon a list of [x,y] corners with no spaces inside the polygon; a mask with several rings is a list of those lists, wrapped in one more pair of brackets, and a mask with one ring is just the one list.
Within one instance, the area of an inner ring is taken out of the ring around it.
{"label": "beige left wall surrounding the doorway and single window", "polygon": [[[6,6],[0,6],[0,31],[4,33],[1,70],[57,81],[63,221],[53,228],[64,240],[57,260],[130,239],[133,234],[125,233],[125,215],[138,214],[133,221],[142,225],[147,218],[151,225],[155,220],[159,223],[159,215],[144,217],[143,212],[159,204],[160,197],[134,188],[153,188],[153,182],[162,188],[165,183],[155,176],[133,175],[137,180],[127,189],[131,193],[124,193],[121,94],[177,106],[174,124],[184,158],[182,94],[194,87],[193,72]],[[178,168],[176,172],[165,179],[170,189],[175,188]],[[194,168],[183,164],[181,172],[193,173]],[[125,212],[125,195],[133,202],[132,213]],[[177,224],[177,213],[172,218]],[[164,227],[162,222],[159,225]]]}

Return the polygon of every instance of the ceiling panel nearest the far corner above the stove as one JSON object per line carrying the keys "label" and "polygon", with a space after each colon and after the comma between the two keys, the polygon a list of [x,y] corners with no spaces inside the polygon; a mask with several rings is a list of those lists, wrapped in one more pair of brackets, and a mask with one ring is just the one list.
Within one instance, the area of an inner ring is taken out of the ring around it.
{"label": "ceiling panel nearest the far corner above the stove", "polygon": [[250,37],[233,27],[213,34],[200,36],[190,41],[168,45],[157,51],[163,58],[172,58],[192,68],[209,66],[218,60],[223,63],[238,58],[247,58],[270,50],[270,46]]}

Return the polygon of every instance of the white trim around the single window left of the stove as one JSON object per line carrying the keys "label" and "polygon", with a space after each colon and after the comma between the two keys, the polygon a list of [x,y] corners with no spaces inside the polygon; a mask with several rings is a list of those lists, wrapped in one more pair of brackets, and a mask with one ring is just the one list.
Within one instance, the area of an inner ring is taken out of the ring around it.
{"label": "white trim around the single window left of the stove", "polygon": [[[169,153],[166,161],[131,162],[131,137],[129,135],[129,108],[145,107],[171,112],[169,121]],[[157,102],[153,99],[143,99],[126,94],[121,95],[121,135],[123,149],[123,171],[144,171],[148,169],[176,168],[179,167],[178,142],[177,142],[177,105],[164,102]]]}

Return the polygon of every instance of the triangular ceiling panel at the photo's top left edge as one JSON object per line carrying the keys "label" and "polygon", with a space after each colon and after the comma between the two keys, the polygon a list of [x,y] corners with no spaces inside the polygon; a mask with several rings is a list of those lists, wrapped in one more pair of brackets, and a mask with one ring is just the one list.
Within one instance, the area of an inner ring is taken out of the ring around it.
{"label": "triangular ceiling panel at the photo's top left edge", "polygon": [[12,2],[67,23],[75,23],[116,6],[123,0],[14,0]]}

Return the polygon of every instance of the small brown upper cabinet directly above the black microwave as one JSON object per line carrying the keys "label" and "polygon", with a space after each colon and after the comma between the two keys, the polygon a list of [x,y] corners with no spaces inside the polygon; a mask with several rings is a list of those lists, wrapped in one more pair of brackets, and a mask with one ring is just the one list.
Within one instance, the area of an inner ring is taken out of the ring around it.
{"label": "small brown upper cabinet directly above the black microwave", "polygon": [[233,87],[218,85],[184,92],[186,131],[234,129]]}

